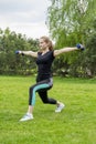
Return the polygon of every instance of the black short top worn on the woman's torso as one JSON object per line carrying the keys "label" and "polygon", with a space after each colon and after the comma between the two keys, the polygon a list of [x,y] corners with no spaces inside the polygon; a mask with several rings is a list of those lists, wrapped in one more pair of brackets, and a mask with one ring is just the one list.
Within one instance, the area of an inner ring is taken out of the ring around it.
{"label": "black short top worn on the woman's torso", "polygon": [[36,81],[49,79],[52,76],[52,62],[54,60],[54,51],[49,51],[42,55],[42,52],[38,53],[36,64],[38,64],[38,78]]}

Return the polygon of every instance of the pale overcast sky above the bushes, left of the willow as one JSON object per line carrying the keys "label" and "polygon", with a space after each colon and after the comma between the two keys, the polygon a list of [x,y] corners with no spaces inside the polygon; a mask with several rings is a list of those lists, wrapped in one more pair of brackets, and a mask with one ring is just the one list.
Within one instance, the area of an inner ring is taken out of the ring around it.
{"label": "pale overcast sky above the bushes, left of the willow", "polygon": [[25,34],[28,38],[49,35],[45,25],[50,0],[0,0],[0,28]]}

